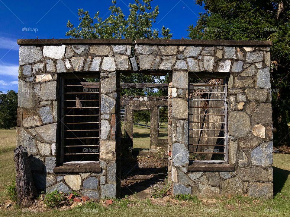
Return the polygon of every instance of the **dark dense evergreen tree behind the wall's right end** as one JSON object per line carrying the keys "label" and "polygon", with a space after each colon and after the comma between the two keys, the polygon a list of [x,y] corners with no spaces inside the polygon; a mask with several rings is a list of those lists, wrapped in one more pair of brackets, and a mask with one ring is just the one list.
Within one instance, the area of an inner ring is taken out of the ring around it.
{"label": "dark dense evergreen tree behind the wall's right end", "polygon": [[204,5],[191,39],[272,40],[271,86],[275,145],[289,144],[290,4],[287,0],[196,0]]}

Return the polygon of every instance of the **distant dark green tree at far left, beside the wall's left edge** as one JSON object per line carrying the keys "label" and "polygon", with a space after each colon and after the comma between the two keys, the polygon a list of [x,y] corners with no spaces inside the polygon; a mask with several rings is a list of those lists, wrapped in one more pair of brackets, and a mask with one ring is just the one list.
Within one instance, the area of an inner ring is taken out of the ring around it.
{"label": "distant dark green tree at far left, beside the wall's left edge", "polygon": [[16,127],[17,93],[0,91],[0,129]]}

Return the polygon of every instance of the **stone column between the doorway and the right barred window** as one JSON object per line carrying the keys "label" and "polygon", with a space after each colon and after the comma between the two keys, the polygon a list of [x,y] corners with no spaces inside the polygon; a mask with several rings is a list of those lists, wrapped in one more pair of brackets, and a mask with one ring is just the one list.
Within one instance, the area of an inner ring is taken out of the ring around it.
{"label": "stone column between the doorway and the right barred window", "polygon": [[191,194],[178,180],[179,173],[186,170],[188,160],[188,72],[172,72],[172,193]]}

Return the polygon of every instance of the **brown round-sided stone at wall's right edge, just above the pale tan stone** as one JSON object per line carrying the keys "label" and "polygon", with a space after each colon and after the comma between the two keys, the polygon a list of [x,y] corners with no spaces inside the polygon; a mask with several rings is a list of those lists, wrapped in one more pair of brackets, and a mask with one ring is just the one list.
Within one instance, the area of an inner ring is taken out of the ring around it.
{"label": "brown round-sided stone at wall's right edge, just above the pale tan stone", "polygon": [[252,115],[253,120],[259,124],[272,124],[271,103],[262,103],[255,109]]}

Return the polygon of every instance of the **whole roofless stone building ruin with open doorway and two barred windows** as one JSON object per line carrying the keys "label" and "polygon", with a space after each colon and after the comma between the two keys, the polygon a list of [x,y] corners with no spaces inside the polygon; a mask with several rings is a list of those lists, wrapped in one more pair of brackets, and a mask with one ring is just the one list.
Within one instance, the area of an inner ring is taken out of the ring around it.
{"label": "whole roofless stone building ruin with open doorway and two barred windows", "polygon": [[[17,145],[27,149],[37,189],[119,197],[120,150],[131,142],[132,110],[147,108],[151,149],[168,153],[173,195],[273,197],[272,42],[19,39],[18,44]],[[129,84],[121,83],[121,73],[168,74],[169,83],[158,86],[168,96],[122,97],[121,88]],[[168,140],[157,138],[158,106],[168,107]]]}

